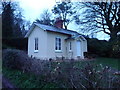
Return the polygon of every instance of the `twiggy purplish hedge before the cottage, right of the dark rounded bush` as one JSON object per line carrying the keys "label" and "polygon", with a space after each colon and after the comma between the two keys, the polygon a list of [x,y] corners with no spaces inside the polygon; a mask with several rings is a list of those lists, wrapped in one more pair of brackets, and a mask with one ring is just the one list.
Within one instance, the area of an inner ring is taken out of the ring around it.
{"label": "twiggy purplish hedge before the cottage, right of the dark rounded bush", "polygon": [[32,60],[31,71],[45,83],[54,83],[61,88],[119,88],[120,77],[113,75],[110,67],[90,63],[77,67],[75,63],[79,62]]}

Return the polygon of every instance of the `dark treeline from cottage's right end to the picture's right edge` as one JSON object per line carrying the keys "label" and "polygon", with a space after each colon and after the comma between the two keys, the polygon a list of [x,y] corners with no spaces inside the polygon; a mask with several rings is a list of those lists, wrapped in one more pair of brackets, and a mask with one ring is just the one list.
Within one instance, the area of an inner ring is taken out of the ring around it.
{"label": "dark treeline from cottage's right end to the picture's right edge", "polygon": [[117,42],[114,45],[110,44],[109,41],[98,40],[96,38],[87,38],[87,41],[88,54],[92,57],[120,58],[120,37],[118,37]]}

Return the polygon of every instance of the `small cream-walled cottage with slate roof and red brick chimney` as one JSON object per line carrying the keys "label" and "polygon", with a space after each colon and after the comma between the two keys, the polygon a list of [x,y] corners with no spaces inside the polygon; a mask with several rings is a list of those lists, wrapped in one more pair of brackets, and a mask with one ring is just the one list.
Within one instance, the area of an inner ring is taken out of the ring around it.
{"label": "small cream-walled cottage with slate roof and red brick chimney", "polygon": [[63,29],[59,19],[55,26],[33,23],[25,37],[28,37],[28,55],[40,59],[84,59],[87,52],[86,39],[76,31]]}

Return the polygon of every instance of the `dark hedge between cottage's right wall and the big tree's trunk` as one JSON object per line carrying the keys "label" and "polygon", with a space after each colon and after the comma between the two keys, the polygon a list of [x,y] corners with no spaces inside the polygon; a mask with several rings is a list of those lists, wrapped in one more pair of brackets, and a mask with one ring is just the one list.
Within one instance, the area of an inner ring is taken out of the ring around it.
{"label": "dark hedge between cottage's right wall and the big tree's trunk", "polygon": [[97,56],[110,57],[112,49],[108,41],[98,40],[96,38],[88,38],[87,41],[88,52]]}

